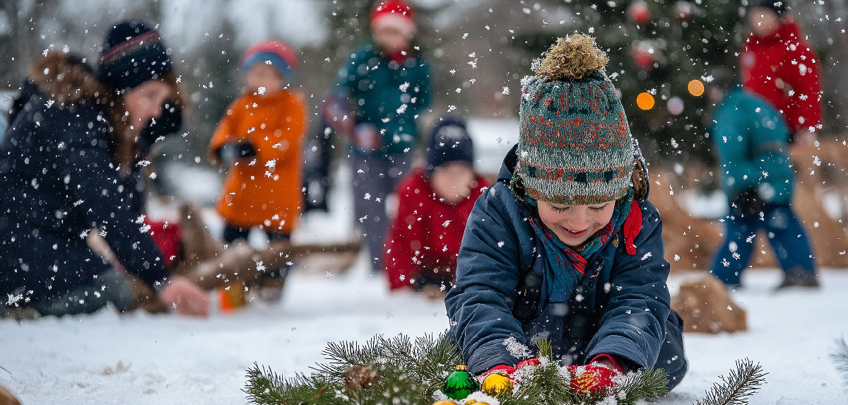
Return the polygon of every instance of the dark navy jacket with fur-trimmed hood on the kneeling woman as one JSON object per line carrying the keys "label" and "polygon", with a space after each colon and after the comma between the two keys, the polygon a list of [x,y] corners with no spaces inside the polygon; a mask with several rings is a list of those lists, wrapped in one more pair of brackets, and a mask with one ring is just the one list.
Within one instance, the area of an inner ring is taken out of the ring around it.
{"label": "dark navy jacket with fur-trimmed hood on the kneeling woman", "polygon": [[51,75],[0,142],[0,294],[38,302],[90,285],[110,268],[86,245],[92,227],[129,272],[157,287],[169,274],[137,222],[137,179],[114,161],[109,111],[93,96],[103,89],[90,70],[43,63]]}

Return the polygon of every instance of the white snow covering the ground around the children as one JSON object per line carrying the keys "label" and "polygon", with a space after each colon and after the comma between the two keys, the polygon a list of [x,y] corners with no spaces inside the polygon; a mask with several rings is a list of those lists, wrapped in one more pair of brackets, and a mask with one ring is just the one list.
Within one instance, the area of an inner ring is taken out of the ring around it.
{"label": "white snow covering the ground around the children", "polygon": [[[516,140],[516,121],[475,120],[470,130],[477,167],[491,172]],[[192,184],[195,197],[217,192],[215,176],[179,170],[172,180]],[[348,175],[335,175],[330,214],[307,214],[298,241],[339,241],[354,235]],[[693,210],[714,202],[692,199]],[[210,229],[215,216],[207,212]],[[257,244],[261,240],[254,238]],[[672,294],[684,276],[672,276]],[[734,299],[748,313],[747,332],[685,335],[689,374],[663,404],[690,404],[740,358],[761,363],[767,384],[751,404],[844,404],[845,381],[828,358],[834,339],[848,331],[848,272],[823,269],[820,290],[774,292],[778,269],[751,269]],[[215,302],[213,302],[215,305]],[[366,341],[383,334],[438,334],[448,328],[444,303],[413,293],[388,292],[360,258],[353,269],[319,274],[297,269],[283,300],[254,302],[209,319],[176,314],[48,317],[0,320],[0,384],[23,404],[244,403],[245,371],[255,363],[284,376],[309,372],[329,341]]]}

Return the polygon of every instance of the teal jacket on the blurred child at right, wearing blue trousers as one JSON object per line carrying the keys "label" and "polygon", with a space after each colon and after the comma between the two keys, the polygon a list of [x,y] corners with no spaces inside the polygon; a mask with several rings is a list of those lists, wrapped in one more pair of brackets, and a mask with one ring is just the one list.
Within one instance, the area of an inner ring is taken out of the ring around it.
{"label": "teal jacket on the blurred child at right, wearing blue trousers", "polygon": [[712,114],[710,136],[728,200],[754,189],[763,202],[789,204],[795,184],[789,162],[789,126],[771,103],[736,87]]}

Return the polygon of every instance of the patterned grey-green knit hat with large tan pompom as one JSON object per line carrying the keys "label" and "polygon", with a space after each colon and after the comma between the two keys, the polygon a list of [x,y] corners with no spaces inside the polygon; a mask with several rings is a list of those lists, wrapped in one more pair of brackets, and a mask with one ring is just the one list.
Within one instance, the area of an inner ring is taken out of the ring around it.
{"label": "patterned grey-green knit hat with large tan pompom", "polygon": [[607,61],[594,38],[567,36],[534,61],[535,76],[522,80],[513,187],[525,197],[588,205],[627,194],[633,136]]}

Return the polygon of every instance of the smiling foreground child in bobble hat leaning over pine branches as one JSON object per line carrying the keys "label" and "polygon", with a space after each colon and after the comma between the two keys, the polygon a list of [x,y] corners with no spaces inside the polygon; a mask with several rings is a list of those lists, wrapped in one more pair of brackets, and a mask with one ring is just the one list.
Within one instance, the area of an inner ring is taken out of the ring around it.
{"label": "smiling foreground child in bobble hat leaning over pine branches", "polygon": [[445,304],[484,390],[536,356],[513,340],[588,364],[596,391],[632,369],[665,369],[669,388],[686,372],[660,215],[606,62],[589,36],[550,48],[522,80],[520,141],[468,219]]}

